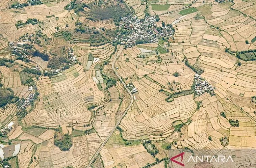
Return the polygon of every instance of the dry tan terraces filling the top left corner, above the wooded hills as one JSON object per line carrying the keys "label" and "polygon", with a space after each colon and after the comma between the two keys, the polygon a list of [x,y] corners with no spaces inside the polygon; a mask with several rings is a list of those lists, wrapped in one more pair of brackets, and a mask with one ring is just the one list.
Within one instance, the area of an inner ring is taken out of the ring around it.
{"label": "dry tan terraces filling the top left corner, above the wooded hills", "polygon": [[[14,41],[18,39],[21,35],[26,33],[35,33],[36,31],[42,30],[48,37],[51,37],[51,34],[57,32],[55,27],[59,27],[60,29],[66,29],[65,24],[69,24],[71,29],[74,27],[75,21],[71,20],[71,14],[74,13],[74,10],[70,12],[68,10],[64,10],[64,7],[69,3],[69,1],[62,2],[52,2],[53,6],[47,7],[45,4],[35,5],[35,6],[27,6],[24,7],[25,11],[20,9],[15,9],[19,13],[15,13],[11,9],[7,9],[7,11],[0,11],[0,34],[3,35],[4,38],[7,38],[9,41]],[[55,17],[46,18],[46,16],[59,17],[59,20],[56,21]],[[15,24],[17,21],[22,21],[25,23],[28,18],[36,18],[39,21],[43,22],[44,25],[41,24],[41,28],[39,25],[31,25],[28,24],[25,27],[17,29]],[[76,17],[75,17],[76,18]]]}

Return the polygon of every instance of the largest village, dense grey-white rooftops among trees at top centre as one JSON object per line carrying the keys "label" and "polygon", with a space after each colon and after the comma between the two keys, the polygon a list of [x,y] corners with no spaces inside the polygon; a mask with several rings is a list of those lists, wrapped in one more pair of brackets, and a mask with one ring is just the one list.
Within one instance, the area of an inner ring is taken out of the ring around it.
{"label": "largest village, dense grey-white rooftops among trees at top centre", "polygon": [[155,16],[147,16],[145,19],[138,19],[136,16],[132,19],[121,18],[117,29],[119,31],[113,43],[125,45],[126,48],[142,43],[158,43],[159,38],[171,37],[174,34],[171,25],[162,27],[163,31],[159,32]]}

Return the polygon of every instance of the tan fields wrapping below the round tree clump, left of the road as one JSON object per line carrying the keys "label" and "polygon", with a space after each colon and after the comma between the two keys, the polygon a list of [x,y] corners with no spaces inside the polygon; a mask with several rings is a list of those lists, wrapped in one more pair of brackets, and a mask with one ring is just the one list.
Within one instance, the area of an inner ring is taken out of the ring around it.
{"label": "tan fields wrapping below the round tree clump, left of the road", "polygon": [[53,138],[37,146],[35,155],[40,158],[40,167],[85,167],[102,141],[96,133],[73,138],[69,151],[61,151],[54,145]]}

